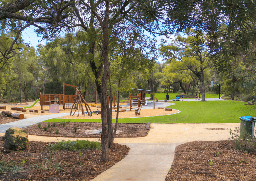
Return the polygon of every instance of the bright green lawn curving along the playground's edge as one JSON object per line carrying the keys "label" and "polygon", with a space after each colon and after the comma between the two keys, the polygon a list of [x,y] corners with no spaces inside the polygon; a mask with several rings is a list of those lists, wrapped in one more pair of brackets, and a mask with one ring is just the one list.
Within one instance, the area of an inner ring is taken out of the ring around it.
{"label": "bright green lawn curving along the playground's edge", "polygon": [[[177,101],[170,108],[180,113],[165,116],[118,119],[119,123],[240,123],[239,117],[256,117],[254,105],[240,101]],[[142,110],[143,111],[143,110]],[[45,122],[60,122],[66,119],[50,119]],[[71,119],[71,122],[101,122],[101,119]],[[113,119],[115,122],[115,119]]]}

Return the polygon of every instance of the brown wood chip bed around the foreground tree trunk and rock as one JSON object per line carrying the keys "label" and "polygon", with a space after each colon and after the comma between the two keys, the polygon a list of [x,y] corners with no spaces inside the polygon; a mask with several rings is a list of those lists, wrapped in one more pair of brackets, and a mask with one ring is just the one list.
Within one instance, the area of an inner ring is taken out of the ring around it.
{"label": "brown wood chip bed around the foreground tree trunk and rock", "polygon": [[[103,171],[122,160],[130,148],[125,145],[113,144],[109,149],[109,162],[102,162],[101,150],[90,149],[81,151],[48,151],[46,146],[51,142],[30,142],[30,149],[8,153],[9,157],[18,162],[24,169],[26,178],[19,174],[1,174],[1,181],[90,181]],[[2,152],[8,152],[0,141]],[[8,157],[2,160],[9,161]],[[23,162],[25,163],[23,163]],[[58,165],[59,164],[59,165]],[[16,164],[18,165],[18,164]],[[57,168],[58,167],[58,168]]]}

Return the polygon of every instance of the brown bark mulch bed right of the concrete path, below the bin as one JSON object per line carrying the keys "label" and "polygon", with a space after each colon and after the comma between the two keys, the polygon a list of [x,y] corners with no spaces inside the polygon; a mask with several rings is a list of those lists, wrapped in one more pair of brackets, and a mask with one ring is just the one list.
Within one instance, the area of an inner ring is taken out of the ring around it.
{"label": "brown bark mulch bed right of the concrete path, below the bin", "polygon": [[188,142],[175,149],[165,181],[253,181],[255,153],[234,150],[235,141]]}

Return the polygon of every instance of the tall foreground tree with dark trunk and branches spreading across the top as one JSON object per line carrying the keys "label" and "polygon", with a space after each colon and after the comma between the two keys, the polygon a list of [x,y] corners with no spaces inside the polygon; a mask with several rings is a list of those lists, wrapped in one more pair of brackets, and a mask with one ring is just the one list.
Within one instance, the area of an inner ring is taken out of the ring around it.
{"label": "tall foreground tree with dark trunk and branches spreading across the top", "polygon": [[[19,20],[15,24],[18,33],[14,39],[7,55],[13,53],[13,44],[19,34],[26,27],[33,25],[38,27],[36,32],[42,37],[55,36],[62,29],[72,31],[81,27],[90,34],[88,42],[90,66],[95,76],[95,83],[102,107],[102,158],[108,161],[108,124],[109,106],[107,104],[107,81],[109,77],[109,43],[115,37],[119,27],[126,26],[126,23],[137,24],[144,29],[154,32],[157,24],[154,20],[162,16],[162,4],[158,1],[146,0],[72,0],[72,1],[37,1],[17,0],[11,3],[2,3],[0,8],[0,20],[5,23],[7,20]],[[99,61],[95,61],[95,37],[94,33],[100,32],[101,43],[99,45]],[[6,58],[3,57],[3,58]],[[112,128],[111,128],[112,129]]]}

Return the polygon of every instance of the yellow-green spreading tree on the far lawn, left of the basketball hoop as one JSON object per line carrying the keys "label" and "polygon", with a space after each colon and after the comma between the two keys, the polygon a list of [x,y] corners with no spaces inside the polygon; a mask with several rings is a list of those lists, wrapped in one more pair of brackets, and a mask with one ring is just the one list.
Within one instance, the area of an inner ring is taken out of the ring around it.
{"label": "yellow-green spreading tree on the far lawn, left of the basketball hoop", "polygon": [[[204,70],[211,67],[209,52],[205,48],[206,37],[202,33],[188,32],[188,37],[176,34],[169,46],[160,48],[166,61],[176,60],[178,70],[190,70],[200,81],[202,101],[205,101]],[[181,63],[180,63],[181,62]]]}

